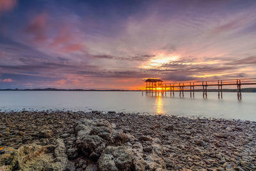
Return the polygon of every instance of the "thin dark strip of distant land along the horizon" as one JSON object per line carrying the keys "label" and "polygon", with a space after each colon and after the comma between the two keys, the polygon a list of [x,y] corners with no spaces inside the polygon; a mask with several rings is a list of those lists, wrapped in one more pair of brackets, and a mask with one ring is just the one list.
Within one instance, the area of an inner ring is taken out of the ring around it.
{"label": "thin dark strip of distant land along the horizon", "polygon": [[[46,89],[0,89],[0,91],[142,91],[142,90],[122,90],[122,89],[54,89],[54,88],[46,88]],[[144,91],[144,90],[143,90]],[[184,90],[189,92],[189,90]],[[218,89],[208,89],[208,92],[218,92]],[[223,92],[231,92],[236,93],[237,89],[222,89]],[[168,92],[168,91],[167,91]],[[179,92],[179,91],[177,91]],[[195,92],[202,92],[202,89],[195,89]],[[256,93],[256,88],[243,88],[241,89],[242,93]]]}

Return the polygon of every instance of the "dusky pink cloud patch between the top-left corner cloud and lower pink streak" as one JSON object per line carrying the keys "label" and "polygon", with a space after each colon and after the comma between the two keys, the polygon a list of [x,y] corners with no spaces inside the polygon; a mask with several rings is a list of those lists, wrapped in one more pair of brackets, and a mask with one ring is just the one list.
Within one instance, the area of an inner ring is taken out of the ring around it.
{"label": "dusky pink cloud patch between the top-left corner cloud and lower pink streak", "polygon": [[47,13],[40,13],[29,21],[26,32],[33,35],[35,41],[44,41],[47,39],[45,30],[47,29]]}

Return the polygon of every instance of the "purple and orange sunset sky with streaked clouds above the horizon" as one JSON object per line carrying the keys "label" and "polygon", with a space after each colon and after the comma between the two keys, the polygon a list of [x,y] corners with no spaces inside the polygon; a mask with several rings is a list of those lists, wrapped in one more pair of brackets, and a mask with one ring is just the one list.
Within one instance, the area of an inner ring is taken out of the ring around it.
{"label": "purple and orange sunset sky with streaked clouds above the horizon", "polygon": [[0,89],[255,78],[256,1],[0,0]]}

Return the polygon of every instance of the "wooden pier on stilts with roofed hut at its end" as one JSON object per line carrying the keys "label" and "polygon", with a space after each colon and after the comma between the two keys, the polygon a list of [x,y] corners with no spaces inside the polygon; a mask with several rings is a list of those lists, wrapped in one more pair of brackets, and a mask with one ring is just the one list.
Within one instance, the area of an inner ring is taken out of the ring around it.
{"label": "wooden pier on stilts with roofed hut at its end", "polygon": [[196,82],[175,82],[164,83],[163,80],[150,78],[145,80],[146,96],[166,96],[166,93],[170,93],[170,96],[174,97],[174,92],[179,91],[179,96],[184,97],[184,88],[190,92],[190,98],[195,97],[195,87],[202,87],[203,98],[207,98],[208,87],[218,87],[218,98],[223,98],[223,86],[236,87],[237,99],[242,100],[241,85],[256,85],[256,78],[243,78],[236,80],[209,80],[209,81],[196,81]]}

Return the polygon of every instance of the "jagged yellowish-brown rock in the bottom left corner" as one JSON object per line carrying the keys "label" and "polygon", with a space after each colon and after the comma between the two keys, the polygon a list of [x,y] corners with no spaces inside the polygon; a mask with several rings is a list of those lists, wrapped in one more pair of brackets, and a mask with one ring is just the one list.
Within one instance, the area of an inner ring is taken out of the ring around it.
{"label": "jagged yellowish-brown rock in the bottom left corner", "polygon": [[22,145],[12,155],[4,154],[0,164],[5,170],[65,170],[67,165],[65,145],[61,139],[56,141],[56,145]]}

